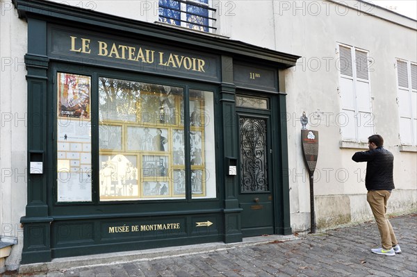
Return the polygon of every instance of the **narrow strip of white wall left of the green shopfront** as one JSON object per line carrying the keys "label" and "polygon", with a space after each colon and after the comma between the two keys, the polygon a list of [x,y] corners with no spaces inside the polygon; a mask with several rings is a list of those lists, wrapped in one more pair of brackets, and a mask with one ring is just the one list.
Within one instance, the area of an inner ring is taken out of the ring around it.
{"label": "narrow strip of white wall left of the green shopfront", "polygon": [[0,239],[17,239],[6,260],[8,269],[13,270],[22,254],[20,217],[25,215],[27,199],[27,29],[26,22],[17,18],[11,1],[0,1],[0,7]]}

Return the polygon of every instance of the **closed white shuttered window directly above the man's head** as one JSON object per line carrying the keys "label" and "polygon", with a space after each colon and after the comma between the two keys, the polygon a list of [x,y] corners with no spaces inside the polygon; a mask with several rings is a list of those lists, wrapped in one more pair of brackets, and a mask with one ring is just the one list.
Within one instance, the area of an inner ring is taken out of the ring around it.
{"label": "closed white shuttered window directly above the man's head", "polygon": [[341,113],[336,117],[343,140],[368,142],[373,134],[368,51],[338,44]]}

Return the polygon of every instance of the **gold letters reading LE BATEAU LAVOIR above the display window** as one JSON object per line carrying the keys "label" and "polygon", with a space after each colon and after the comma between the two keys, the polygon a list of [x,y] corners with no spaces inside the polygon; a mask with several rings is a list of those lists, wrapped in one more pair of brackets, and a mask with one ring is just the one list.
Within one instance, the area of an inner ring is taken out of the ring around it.
{"label": "gold letters reading LE BATEAU LAVOIR above the display window", "polygon": [[[154,64],[156,62],[163,67],[186,69],[193,72],[206,72],[204,69],[206,61],[201,58],[165,53],[162,51],[155,53],[152,49],[142,49],[142,47],[130,47],[116,43],[109,44],[108,42],[99,40],[92,42],[92,40],[85,37],[70,36],[70,40],[70,51],[72,52],[105,56],[120,60],[131,60],[147,64]],[[97,53],[92,53],[92,49],[95,49],[91,47],[93,43],[97,46]]]}

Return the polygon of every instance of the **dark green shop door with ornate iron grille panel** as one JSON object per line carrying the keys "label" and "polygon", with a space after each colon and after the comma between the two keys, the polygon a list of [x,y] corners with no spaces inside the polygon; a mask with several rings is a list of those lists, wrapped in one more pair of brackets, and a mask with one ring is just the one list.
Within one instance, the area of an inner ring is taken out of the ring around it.
{"label": "dark green shop door with ornate iron grille panel", "polygon": [[244,237],[274,233],[270,115],[237,109],[239,203]]}

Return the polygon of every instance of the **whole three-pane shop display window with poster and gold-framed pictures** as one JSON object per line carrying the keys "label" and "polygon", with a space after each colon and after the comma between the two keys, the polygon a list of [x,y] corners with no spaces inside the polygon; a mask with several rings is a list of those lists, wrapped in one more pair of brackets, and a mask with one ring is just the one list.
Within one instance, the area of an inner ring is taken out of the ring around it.
{"label": "whole three-pane shop display window with poster and gold-framed pictures", "polygon": [[58,202],[96,192],[103,202],[216,197],[213,91],[65,72],[57,80]]}

